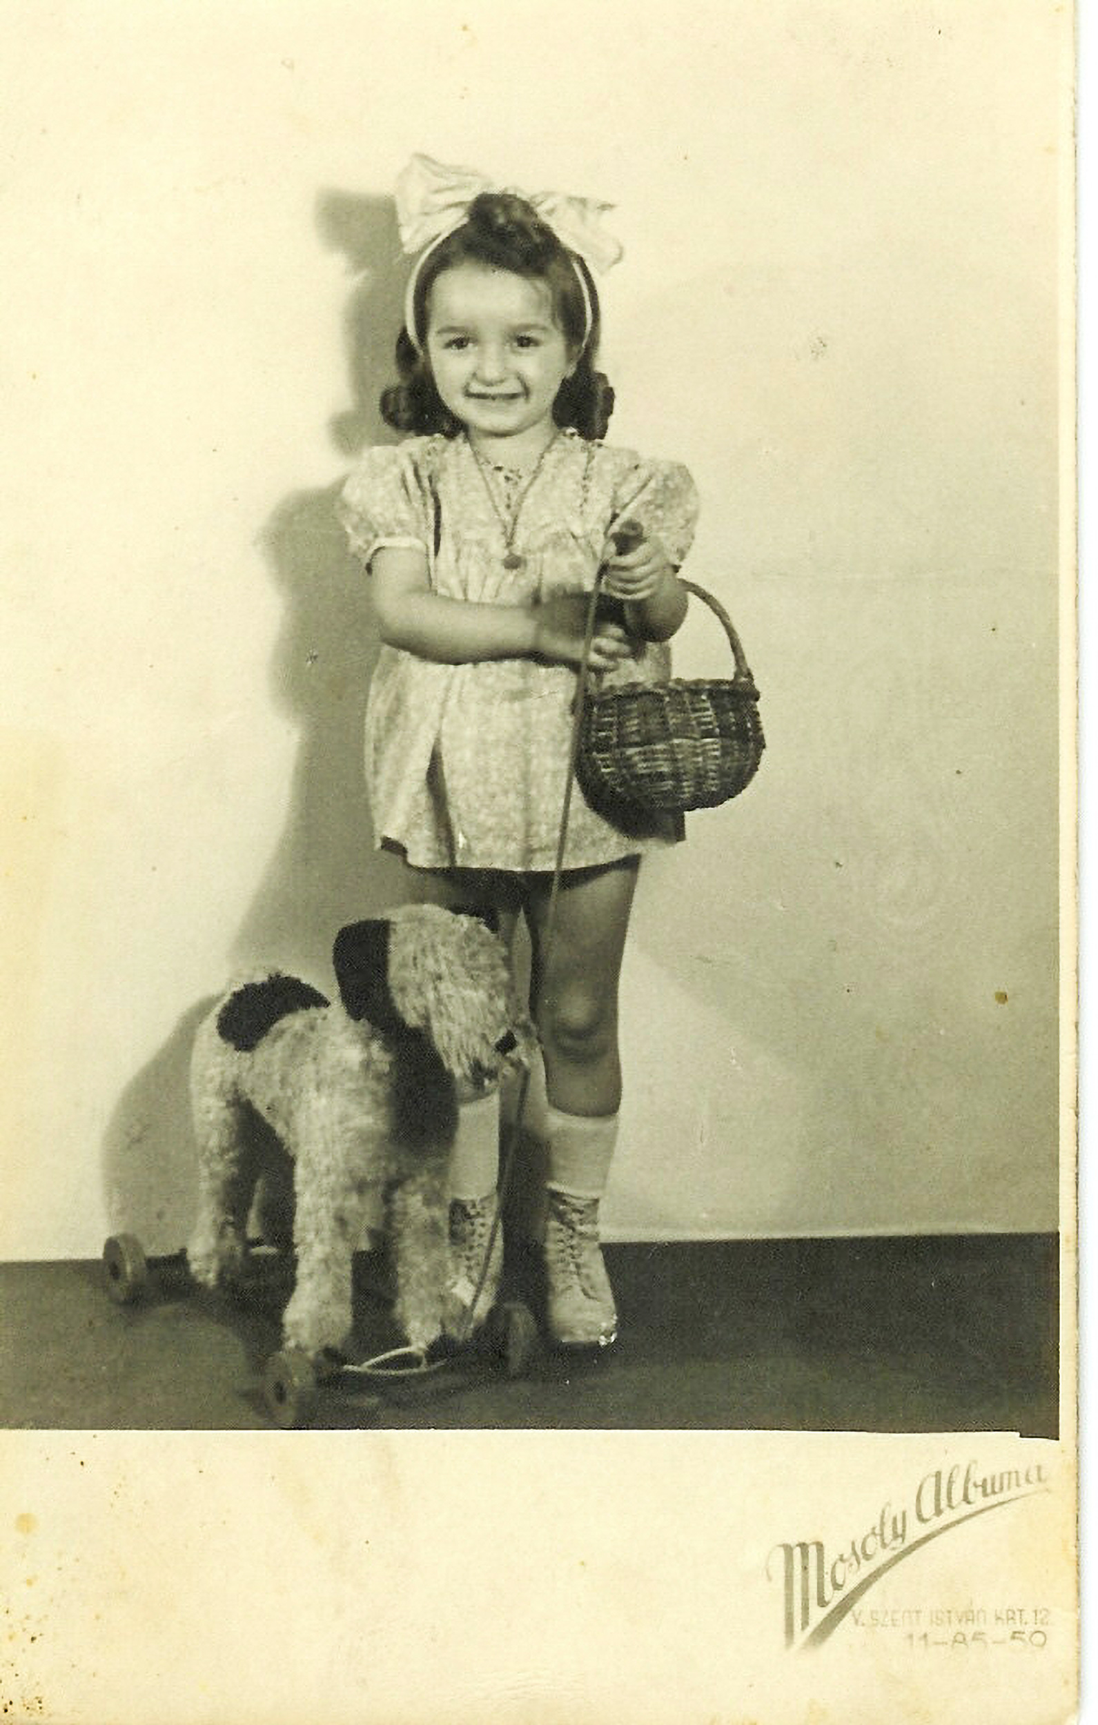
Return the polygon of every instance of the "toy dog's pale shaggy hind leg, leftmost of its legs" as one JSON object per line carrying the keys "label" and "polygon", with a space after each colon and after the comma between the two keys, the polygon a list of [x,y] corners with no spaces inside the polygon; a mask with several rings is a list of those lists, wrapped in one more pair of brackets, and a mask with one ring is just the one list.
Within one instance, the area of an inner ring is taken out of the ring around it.
{"label": "toy dog's pale shaggy hind leg, leftmost of its legs", "polygon": [[205,1287],[231,1280],[247,1254],[247,1220],[259,1175],[259,1151],[245,1104],[205,1095],[195,1107],[199,1140],[199,1218],[186,1261]]}

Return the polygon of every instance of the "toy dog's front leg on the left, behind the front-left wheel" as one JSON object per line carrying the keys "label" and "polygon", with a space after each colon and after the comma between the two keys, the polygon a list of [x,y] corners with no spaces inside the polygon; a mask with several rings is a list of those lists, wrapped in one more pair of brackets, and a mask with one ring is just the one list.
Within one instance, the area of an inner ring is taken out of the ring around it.
{"label": "toy dog's front leg on the left, behind the front-left wheel", "polygon": [[319,1352],[338,1349],[350,1332],[354,1252],[383,1161],[361,1118],[335,1114],[330,1095],[299,1109],[295,1137],[297,1280],[283,1337],[288,1347]]}

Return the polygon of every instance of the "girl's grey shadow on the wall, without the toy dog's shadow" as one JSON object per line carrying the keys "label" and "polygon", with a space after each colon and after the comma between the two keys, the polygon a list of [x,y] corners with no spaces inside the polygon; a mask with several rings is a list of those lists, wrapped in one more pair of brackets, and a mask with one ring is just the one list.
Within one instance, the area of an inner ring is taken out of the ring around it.
{"label": "girl's grey shadow on the wall, without the toy dog's shadow", "polygon": [[[330,191],[318,228],[357,276],[345,314],[352,405],[330,426],[347,455],[394,442],[378,412],[392,381],[406,264],[390,198]],[[401,868],[373,849],[363,780],[366,692],[378,654],[368,583],[335,518],[342,481],[299,492],[262,536],[285,599],[271,692],[299,730],[287,825],[233,947],[238,964],[302,969],[323,988],[335,932],[402,895]]]}

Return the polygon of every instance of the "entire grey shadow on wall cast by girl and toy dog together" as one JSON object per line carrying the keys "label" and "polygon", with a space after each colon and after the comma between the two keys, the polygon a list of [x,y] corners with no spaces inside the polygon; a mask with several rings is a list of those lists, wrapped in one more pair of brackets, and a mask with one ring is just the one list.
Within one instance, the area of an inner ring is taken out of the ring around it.
{"label": "entire grey shadow on wall cast by girl and toy dog together", "polygon": [[[325,191],[316,228],[356,278],[344,340],[350,405],[330,423],[344,455],[394,442],[378,412],[394,378],[406,260],[392,198]],[[287,497],[261,535],[283,595],[271,659],[276,707],[299,731],[283,831],[233,942],[235,969],[281,968],[331,990],[331,940],[349,921],[404,897],[395,857],[375,850],[363,778],[366,692],[378,654],[368,583],[335,518],[342,480]],[[221,978],[211,978],[218,987]],[[110,1232],[154,1252],[178,1251],[195,1209],[188,1066],[212,997],[190,1007],[123,1092],[102,1147]]]}

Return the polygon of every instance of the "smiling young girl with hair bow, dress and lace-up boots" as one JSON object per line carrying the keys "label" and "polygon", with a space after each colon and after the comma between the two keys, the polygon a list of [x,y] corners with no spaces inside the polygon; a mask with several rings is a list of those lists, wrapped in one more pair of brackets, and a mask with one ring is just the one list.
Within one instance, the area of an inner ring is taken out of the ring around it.
{"label": "smiling young girl with hair bow, dress and lace-up boots", "polygon": [[[608,562],[618,614],[596,626],[594,671],[668,678],[696,521],[684,467],[601,442],[613,392],[596,369],[589,262],[620,255],[597,224],[604,207],[485,190],[413,159],[397,214],[418,259],[401,381],[382,397],[387,423],[409,435],[368,448],[340,500],[383,642],[366,716],[378,844],[404,856],[416,900],[490,907],[506,938],[518,916],[530,932],[546,1092],[525,1128],[546,1144],[546,1321],[580,1347],[613,1342],[618,1327],[597,1206],[618,1133],[618,975],[637,869],[682,833],[622,831],[577,788],[546,950],[577,666]],[[625,521],[642,538],[618,555]],[[499,1099],[468,1101],[451,1175],[458,1311],[473,1301],[497,1176]],[[497,1280],[499,1254],[476,1320]]]}

